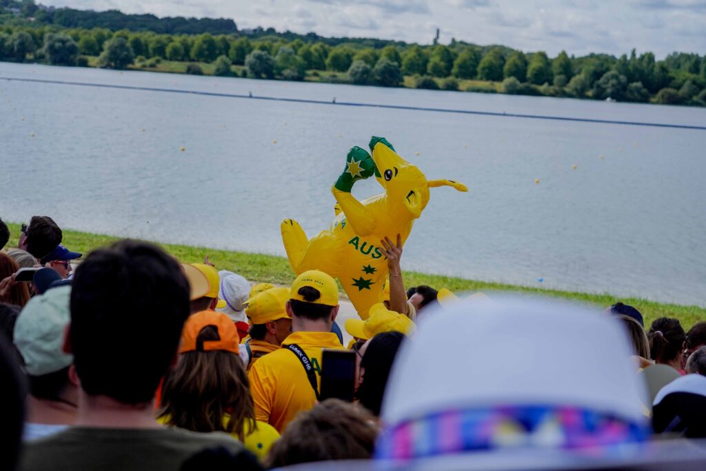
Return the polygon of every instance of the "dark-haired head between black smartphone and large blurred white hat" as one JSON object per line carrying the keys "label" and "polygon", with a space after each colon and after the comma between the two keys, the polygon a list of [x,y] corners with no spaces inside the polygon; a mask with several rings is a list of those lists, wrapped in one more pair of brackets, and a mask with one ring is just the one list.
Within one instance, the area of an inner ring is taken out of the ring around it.
{"label": "dark-haired head between black smartphone and large blurred white hat", "polygon": [[400,332],[378,333],[368,340],[365,347],[360,362],[360,386],[356,395],[360,404],[373,415],[380,415],[385,385],[402,340],[405,340],[405,334]]}

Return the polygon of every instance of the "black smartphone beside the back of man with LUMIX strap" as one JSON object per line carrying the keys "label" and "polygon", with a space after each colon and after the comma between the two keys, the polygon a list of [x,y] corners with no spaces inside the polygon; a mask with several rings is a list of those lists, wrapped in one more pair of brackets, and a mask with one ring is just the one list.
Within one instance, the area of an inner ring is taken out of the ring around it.
{"label": "black smartphone beside the back of man with LUMIX strap", "polygon": [[353,401],[355,357],[356,352],[351,350],[324,349],[321,352],[321,400]]}

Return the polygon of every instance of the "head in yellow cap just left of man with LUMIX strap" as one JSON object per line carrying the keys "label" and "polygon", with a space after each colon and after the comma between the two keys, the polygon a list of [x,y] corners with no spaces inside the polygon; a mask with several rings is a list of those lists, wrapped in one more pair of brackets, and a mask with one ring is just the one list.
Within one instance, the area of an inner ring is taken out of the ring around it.
{"label": "head in yellow cap just left of man with LUMIX strap", "polygon": [[287,314],[289,288],[272,288],[248,300],[245,314],[251,322],[250,337],[282,345],[292,333],[292,318]]}

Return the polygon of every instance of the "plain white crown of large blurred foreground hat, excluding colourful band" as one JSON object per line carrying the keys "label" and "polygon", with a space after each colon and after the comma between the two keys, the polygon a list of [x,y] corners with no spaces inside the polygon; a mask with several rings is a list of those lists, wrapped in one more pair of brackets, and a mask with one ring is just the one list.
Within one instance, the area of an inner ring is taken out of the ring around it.
{"label": "plain white crown of large blurred foreground hat, excluding colourful band", "polygon": [[424,317],[385,390],[381,418],[390,427],[448,410],[530,404],[645,422],[647,391],[615,318],[527,297],[462,300]]}

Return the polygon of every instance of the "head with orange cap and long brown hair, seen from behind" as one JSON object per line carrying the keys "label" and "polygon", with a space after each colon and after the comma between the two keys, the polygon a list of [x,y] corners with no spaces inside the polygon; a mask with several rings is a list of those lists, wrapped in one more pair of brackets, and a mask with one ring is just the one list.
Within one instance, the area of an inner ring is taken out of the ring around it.
{"label": "head with orange cap and long brown hair, seen from behind", "polygon": [[189,317],[179,362],[164,381],[160,416],[182,429],[226,431],[242,439],[255,406],[238,345],[237,329],[226,314],[202,311]]}

